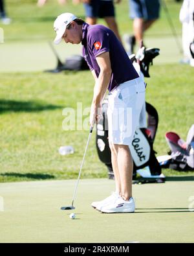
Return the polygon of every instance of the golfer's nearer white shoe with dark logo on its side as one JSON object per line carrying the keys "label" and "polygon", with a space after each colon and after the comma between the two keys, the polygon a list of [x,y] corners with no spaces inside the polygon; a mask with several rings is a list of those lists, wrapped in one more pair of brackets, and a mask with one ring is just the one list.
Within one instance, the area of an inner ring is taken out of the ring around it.
{"label": "golfer's nearer white shoe with dark logo on its side", "polygon": [[102,213],[134,213],[135,201],[131,197],[129,201],[125,201],[122,197],[118,197],[112,204],[107,204],[102,207],[96,207]]}

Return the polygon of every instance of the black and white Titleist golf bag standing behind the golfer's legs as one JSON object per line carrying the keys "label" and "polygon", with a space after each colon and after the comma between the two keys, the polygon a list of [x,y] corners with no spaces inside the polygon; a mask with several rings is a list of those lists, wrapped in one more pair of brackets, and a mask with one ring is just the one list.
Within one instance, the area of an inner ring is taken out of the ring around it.
{"label": "black and white Titleist golf bag standing behind the golfer's legs", "polygon": [[[129,146],[133,157],[133,180],[136,178],[137,170],[149,167],[150,174],[147,178],[160,177],[161,167],[156,159],[153,150],[153,142],[158,127],[158,113],[155,108],[146,102],[147,128],[137,128],[134,139]],[[102,104],[103,119],[96,125],[96,148],[98,157],[105,163],[108,169],[109,178],[114,178],[113,167],[111,163],[111,150],[108,141],[107,124],[107,101]],[[141,172],[138,172],[141,175]]]}

